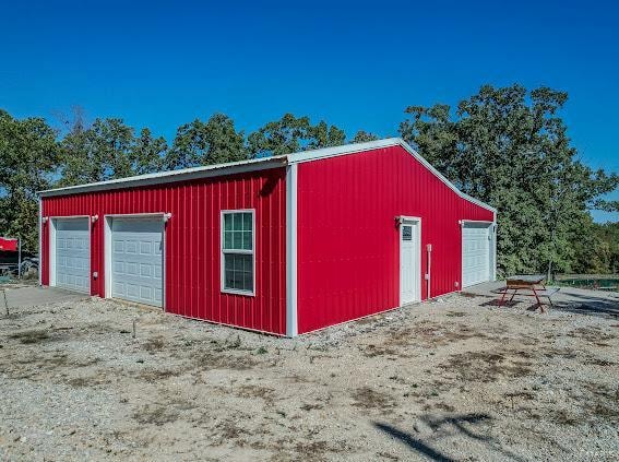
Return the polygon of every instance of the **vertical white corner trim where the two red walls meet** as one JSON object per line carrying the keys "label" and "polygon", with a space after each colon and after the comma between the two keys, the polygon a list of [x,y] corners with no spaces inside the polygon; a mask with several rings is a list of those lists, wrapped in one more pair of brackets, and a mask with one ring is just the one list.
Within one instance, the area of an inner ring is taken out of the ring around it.
{"label": "vertical white corner trim where the two red walls meet", "polygon": [[298,335],[297,319],[297,181],[296,164],[286,168],[286,336]]}

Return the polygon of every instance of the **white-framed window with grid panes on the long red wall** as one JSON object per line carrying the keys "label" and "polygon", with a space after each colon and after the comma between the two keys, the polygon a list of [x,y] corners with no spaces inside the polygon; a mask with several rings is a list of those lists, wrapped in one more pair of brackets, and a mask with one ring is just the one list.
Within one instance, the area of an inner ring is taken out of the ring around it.
{"label": "white-framed window with grid panes on the long red wall", "polygon": [[253,233],[252,211],[224,212],[223,218],[223,289],[253,294]]}

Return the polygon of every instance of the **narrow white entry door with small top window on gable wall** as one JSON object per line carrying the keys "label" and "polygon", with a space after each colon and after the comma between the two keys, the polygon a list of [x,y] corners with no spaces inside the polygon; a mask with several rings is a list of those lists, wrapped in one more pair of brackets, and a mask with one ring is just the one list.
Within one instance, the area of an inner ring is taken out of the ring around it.
{"label": "narrow white entry door with small top window on gable wall", "polygon": [[421,252],[418,221],[400,225],[400,305],[421,300]]}

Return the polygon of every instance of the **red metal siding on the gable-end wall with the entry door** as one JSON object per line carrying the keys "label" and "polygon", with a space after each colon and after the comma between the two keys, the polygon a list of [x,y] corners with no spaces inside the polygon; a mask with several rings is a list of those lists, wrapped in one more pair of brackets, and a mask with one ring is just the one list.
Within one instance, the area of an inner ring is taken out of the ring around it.
{"label": "red metal siding on the gable-end wall with the entry door", "polygon": [[401,146],[299,164],[297,213],[299,333],[397,307],[395,216],[421,218],[421,277],[432,244],[432,296],[462,283],[459,220],[493,218]]}

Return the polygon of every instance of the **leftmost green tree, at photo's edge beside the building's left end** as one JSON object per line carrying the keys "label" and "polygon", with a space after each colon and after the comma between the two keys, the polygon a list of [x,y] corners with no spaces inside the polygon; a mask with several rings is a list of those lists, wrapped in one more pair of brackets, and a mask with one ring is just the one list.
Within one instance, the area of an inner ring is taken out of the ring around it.
{"label": "leftmost green tree, at photo's edge beside the building's left end", "polygon": [[58,164],[56,132],[40,118],[14,119],[0,109],[0,235],[38,248],[36,192],[50,186]]}

